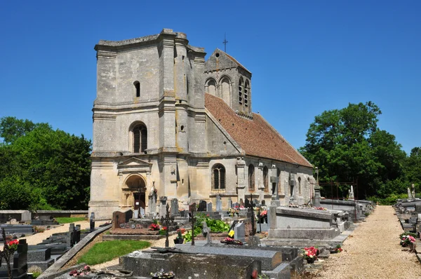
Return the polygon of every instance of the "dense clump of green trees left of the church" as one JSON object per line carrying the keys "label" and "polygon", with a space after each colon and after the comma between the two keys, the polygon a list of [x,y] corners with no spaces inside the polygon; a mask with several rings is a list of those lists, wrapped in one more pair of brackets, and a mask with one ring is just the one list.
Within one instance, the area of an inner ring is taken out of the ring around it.
{"label": "dense clump of green trees left of the church", "polygon": [[[11,121],[7,123],[8,127],[13,126],[9,125]],[[0,128],[2,131],[24,131],[6,135],[8,144],[0,146],[0,155],[4,155],[0,156],[0,196],[7,197],[0,207],[88,207],[91,141],[83,135],[77,137],[53,130],[45,123],[29,125],[20,120],[14,123],[25,127]]]}

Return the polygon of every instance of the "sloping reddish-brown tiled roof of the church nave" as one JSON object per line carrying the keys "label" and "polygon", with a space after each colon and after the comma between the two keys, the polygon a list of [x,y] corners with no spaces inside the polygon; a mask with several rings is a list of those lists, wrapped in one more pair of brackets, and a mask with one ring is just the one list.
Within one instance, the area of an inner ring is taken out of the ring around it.
{"label": "sloping reddish-brown tiled roof of the church nave", "polygon": [[205,107],[246,155],[313,167],[260,114],[253,114],[253,120],[238,116],[222,99],[208,93]]}

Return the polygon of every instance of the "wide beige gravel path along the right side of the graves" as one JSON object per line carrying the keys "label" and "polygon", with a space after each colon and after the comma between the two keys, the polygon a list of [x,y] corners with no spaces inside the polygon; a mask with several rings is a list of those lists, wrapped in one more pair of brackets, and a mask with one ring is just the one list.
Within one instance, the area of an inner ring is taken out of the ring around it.
{"label": "wide beige gravel path along the right side of the graves", "polygon": [[421,278],[415,253],[399,245],[401,225],[391,206],[377,206],[338,254],[330,254],[315,278]]}

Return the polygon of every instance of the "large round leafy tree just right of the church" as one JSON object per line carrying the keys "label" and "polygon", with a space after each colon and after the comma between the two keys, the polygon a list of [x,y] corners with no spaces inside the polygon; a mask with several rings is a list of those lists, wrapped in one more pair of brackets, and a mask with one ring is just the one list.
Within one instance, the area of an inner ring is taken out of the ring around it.
{"label": "large round leafy tree just right of the church", "polygon": [[[314,118],[300,151],[319,167],[321,182],[351,184],[358,179],[356,192],[362,198],[402,178],[406,154],[394,135],[377,128],[381,113],[373,102],[366,102],[323,111]],[[347,188],[341,190],[345,196]]]}

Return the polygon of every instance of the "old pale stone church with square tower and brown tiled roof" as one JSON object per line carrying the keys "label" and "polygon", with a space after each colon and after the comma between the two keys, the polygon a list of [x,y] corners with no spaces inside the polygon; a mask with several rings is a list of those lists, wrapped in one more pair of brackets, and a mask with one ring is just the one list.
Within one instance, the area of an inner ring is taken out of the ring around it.
{"label": "old pale stone church with square tower and brown tiled roof", "polygon": [[95,219],[148,212],[152,194],[180,208],[219,196],[224,210],[250,195],[281,205],[312,199],[312,164],[253,113],[252,74],[234,57],[217,48],[205,60],[204,48],[172,29],[100,40],[95,50]]}

